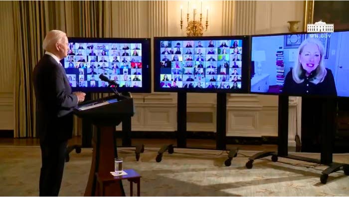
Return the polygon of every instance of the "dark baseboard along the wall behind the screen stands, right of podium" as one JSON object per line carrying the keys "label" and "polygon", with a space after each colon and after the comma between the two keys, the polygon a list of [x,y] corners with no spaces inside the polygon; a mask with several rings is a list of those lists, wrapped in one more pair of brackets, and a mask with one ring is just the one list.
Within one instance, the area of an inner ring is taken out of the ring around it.
{"label": "dark baseboard along the wall behind the screen stands, right of podium", "polygon": [[[131,138],[134,139],[175,139],[175,132],[166,131],[132,131]],[[117,138],[122,138],[123,133],[121,131],[116,132]],[[215,140],[216,134],[214,132],[206,131],[187,131],[187,139],[210,139]],[[239,136],[227,136],[227,144],[245,144],[245,145],[261,145],[261,144],[277,144],[276,136],[262,136],[262,137],[239,137]]]}

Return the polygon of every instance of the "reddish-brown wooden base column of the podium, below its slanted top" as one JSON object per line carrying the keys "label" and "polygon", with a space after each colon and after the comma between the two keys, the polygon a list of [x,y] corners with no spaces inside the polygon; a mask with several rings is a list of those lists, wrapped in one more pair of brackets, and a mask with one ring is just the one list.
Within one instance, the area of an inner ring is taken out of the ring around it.
{"label": "reddish-brown wooden base column of the podium, below its slanted top", "polygon": [[[98,131],[92,140],[93,155],[89,179],[84,196],[99,196],[96,173],[107,174],[114,171],[114,158],[117,157],[115,126],[97,126]],[[121,181],[105,187],[105,196],[125,196]]]}

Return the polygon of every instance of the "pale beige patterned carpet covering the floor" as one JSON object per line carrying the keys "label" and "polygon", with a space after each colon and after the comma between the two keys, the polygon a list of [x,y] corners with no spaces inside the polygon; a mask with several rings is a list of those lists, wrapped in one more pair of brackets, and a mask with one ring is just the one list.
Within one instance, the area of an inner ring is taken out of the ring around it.
{"label": "pale beige patterned carpet covering the floor", "polygon": [[[174,154],[166,152],[157,163],[159,149],[146,147],[139,162],[133,149],[118,150],[124,158],[124,169],[135,169],[142,176],[141,196],[349,196],[349,177],[343,171],[331,174],[326,185],[320,183],[326,166],[314,167],[313,163],[285,158],[273,163],[267,157],[246,169],[245,156],[256,151],[240,150],[231,166],[226,167],[227,154],[221,151],[175,148]],[[84,195],[91,155],[92,149],[71,153],[60,196]],[[295,155],[320,157],[309,153]],[[335,154],[334,162],[349,163],[349,154]],[[0,146],[0,196],[37,196],[40,165],[39,147]],[[123,185],[129,196],[128,181]]]}

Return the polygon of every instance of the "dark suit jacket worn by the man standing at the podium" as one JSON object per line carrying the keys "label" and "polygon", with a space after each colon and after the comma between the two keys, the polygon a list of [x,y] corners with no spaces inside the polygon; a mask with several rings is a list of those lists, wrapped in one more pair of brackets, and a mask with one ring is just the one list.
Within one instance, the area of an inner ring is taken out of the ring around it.
{"label": "dark suit jacket worn by the man standing at the podium", "polygon": [[42,141],[63,141],[72,137],[73,107],[78,98],[72,94],[63,66],[45,54],[33,70],[36,129]]}

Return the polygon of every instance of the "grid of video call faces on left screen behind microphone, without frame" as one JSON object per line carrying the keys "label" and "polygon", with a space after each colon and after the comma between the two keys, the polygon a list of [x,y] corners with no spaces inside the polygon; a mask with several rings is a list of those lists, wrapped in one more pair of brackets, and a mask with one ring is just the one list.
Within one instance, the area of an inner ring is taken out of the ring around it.
{"label": "grid of video call faces on left screen behind microphone, without frame", "polygon": [[142,87],[141,43],[70,42],[64,68],[71,87],[108,87],[103,74],[120,87]]}

